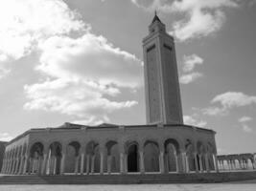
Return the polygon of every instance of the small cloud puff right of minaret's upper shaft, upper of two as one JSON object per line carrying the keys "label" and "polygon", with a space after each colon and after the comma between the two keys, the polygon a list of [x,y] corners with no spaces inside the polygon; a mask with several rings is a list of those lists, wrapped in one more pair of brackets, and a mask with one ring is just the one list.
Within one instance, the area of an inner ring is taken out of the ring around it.
{"label": "small cloud puff right of minaret's upper shaft, upper of two", "polygon": [[184,55],[183,60],[184,65],[182,70],[184,73],[192,72],[197,65],[203,64],[203,59],[195,53],[191,55]]}

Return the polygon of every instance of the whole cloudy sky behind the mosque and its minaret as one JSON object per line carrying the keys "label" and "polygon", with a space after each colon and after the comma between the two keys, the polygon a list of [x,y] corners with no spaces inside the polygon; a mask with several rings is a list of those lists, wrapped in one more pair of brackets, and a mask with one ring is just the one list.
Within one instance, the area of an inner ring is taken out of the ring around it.
{"label": "whole cloudy sky behind the mosque and its minaret", "polygon": [[184,122],[256,152],[256,0],[0,1],[0,140],[64,122],[145,124],[142,39],[157,11]]}

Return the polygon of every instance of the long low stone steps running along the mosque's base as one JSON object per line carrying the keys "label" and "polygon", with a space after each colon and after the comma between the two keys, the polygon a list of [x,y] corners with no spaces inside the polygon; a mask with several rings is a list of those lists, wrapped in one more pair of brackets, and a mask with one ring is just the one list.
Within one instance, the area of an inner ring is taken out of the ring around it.
{"label": "long low stone steps running along the mosque's base", "polygon": [[254,172],[224,172],[203,174],[144,175],[64,175],[64,176],[2,176],[0,184],[132,184],[132,183],[213,183],[255,180]]}

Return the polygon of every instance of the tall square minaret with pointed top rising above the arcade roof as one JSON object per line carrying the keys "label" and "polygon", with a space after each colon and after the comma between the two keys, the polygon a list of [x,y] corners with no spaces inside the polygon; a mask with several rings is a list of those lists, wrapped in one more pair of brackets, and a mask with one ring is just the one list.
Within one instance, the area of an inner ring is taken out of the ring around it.
{"label": "tall square minaret with pointed top rising above the arcade roof", "polygon": [[183,124],[175,39],[156,12],[143,39],[147,123]]}

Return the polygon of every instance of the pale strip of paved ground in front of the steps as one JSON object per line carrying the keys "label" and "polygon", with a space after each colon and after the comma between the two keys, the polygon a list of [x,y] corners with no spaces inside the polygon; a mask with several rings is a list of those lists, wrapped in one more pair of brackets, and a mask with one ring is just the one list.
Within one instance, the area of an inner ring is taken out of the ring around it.
{"label": "pale strip of paved ground in front of the steps", "polygon": [[[256,182],[253,181],[253,182]],[[255,191],[254,183],[140,185],[0,185],[0,191]]]}

